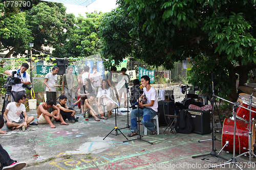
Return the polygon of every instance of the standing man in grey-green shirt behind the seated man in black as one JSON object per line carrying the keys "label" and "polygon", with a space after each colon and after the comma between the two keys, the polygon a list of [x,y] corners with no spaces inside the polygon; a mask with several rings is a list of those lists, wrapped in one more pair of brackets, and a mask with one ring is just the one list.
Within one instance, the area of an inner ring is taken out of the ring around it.
{"label": "standing man in grey-green shirt behind the seated man in black", "polygon": [[[70,65],[68,68],[68,74],[62,76],[62,94],[66,95],[71,103],[75,102],[75,79],[72,74],[73,66]],[[70,106],[74,108],[74,106]]]}

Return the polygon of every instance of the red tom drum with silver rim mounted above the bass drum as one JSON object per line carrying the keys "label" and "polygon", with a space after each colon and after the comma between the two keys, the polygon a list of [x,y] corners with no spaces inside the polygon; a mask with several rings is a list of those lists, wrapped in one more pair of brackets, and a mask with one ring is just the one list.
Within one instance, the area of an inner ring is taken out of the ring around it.
{"label": "red tom drum with silver rim mounted above the bass drum", "polygon": [[[245,108],[249,109],[249,94],[246,93],[240,93],[237,103],[244,106]],[[251,99],[251,110],[256,111],[256,98],[252,96]],[[248,122],[250,120],[250,111],[246,110],[245,108],[239,107],[237,109],[237,118],[244,120],[245,122]],[[251,112],[251,119],[254,120],[256,116],[255,112]]]}

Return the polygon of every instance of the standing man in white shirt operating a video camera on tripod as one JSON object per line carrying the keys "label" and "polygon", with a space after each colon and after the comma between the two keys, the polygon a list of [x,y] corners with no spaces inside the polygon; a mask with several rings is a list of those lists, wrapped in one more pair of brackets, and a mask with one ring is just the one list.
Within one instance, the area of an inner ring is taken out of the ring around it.
{"label": "standing man in white shirt operating a video camera on tripod", "polygon": [[10,77],[12,77],[12,72],[16,71],[17,73],[14,74],[14,77],[20,78],[21,83],[20,84],[14,84],[12,85],[12,94],[14,96],[12,96],[12,102],[15,102],[15,98],[19,93],[22,93],[24,95],[26,95],[26,88],[30,88],[28,85],[30,85],[30,77],[29,74],[26,72],[26,70],[29,68],[28,63],[23,63],[22,66],[20,66],[20,69],[18,70],[6,70],[5,74],[9,75]]}

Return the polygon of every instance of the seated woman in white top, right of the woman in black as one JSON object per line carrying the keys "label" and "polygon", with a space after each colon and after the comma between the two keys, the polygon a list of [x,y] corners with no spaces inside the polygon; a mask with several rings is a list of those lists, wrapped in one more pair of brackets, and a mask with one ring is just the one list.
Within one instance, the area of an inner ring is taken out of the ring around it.
{"label": "seated woman in white top, right of the woman in black", "polygon": [[106,108],[108,110],[108,116],[111,117],[110,114],[111,111],[115,108],[115,104],[113,101],[110,100],[111,91],[109,88],[108,80],[102,80],[101,87],[98,89],[97,98],[99,104],[106,105]]}

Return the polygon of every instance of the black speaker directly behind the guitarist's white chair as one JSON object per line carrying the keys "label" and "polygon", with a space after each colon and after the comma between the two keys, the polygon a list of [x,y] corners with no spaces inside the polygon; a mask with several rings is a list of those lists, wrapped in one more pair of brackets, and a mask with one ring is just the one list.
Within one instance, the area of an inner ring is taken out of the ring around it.
{"label": "black speaker directly behind the guitarist's white chair", "polygon": [[168,120],[168,119],[165,118],[164,114],[174,115],[174,109],[175,109],[174,101],[159,101],[158,102],[159,125],[162,125],[162,126],[168,125],[168,122],[166,122],[166,120]]}

